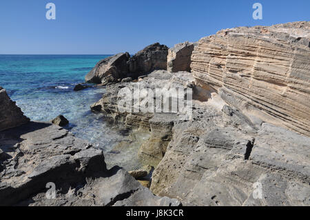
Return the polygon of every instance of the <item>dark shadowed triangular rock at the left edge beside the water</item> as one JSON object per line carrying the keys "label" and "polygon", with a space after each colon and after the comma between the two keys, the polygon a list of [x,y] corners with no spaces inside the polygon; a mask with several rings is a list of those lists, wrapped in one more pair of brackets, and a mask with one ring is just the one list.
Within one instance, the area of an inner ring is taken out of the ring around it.
{"label": "dark shadowed triangular rock at the left edge beside the water", "polygon": [[0,131],[21,126],[30,119],[23,115],[21,109],[8,97],[6,90],[0,87]]}

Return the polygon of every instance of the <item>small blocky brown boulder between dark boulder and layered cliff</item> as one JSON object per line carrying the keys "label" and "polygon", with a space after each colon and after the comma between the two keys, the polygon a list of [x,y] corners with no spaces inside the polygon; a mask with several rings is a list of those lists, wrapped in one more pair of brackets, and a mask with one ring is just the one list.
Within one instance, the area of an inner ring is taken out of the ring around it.
{"label": "small blocky brown boulder between dark boulder and layered cliff", "polygon": [[178,43],[169,48],[167,57],[167,70],[169,72],[191,71],[191,56],[194,50],[194,43],[188,41]]}

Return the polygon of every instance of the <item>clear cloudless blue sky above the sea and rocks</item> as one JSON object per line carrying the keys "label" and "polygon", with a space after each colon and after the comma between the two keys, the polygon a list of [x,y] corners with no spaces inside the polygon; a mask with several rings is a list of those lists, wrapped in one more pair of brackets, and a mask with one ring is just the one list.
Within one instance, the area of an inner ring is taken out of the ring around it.
{"label": "clear cloudless blue sky above the sea and rocks", "polygon": [[[45,5],[56,5],[56,20]],[[254,3],[263,19],[254,20]],[[309,0],[1,0],[0,54],[134,54],[223,28],[310,21]]]}

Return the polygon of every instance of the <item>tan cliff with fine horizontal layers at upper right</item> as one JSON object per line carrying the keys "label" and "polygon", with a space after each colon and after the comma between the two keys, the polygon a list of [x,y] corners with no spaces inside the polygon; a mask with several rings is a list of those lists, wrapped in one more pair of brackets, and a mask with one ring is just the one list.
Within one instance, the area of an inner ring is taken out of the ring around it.
{"label": "tan cliff with fine horizontal layers at upper right", "polygon": [[191,68],[231,106],[310,136],[310,22],[221,30],[200,39]]}

